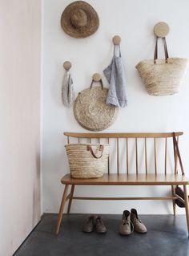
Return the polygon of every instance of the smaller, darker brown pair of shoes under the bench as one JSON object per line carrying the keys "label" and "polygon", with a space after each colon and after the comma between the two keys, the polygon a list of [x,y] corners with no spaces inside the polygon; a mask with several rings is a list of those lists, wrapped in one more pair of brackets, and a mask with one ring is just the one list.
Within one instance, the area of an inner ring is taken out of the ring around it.
{"label": "smaller, darker brown pair of shoes under the bench", "polygon": [[97,233],[106,233],[107,232],[107,228],[103,223],[102,218],[98,215],[98,216],[94,216],[91,215],[90,217],[88,217],[85,225],[82,227],[82,231],[86,232],[86,233],[91,233],[94,231],[94,229],[96,230]]}

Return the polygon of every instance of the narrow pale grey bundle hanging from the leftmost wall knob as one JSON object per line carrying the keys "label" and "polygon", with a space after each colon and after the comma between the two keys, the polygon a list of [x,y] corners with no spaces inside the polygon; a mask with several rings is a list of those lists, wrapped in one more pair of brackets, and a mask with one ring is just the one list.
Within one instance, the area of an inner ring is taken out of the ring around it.
{"label": "narrow pale grey bundle hanging from the leftmost wall knob", "polygon": [[62,103],[69,108],[74,104],[74,84],[70,75],[70,71],[65,71],[63,76]]}

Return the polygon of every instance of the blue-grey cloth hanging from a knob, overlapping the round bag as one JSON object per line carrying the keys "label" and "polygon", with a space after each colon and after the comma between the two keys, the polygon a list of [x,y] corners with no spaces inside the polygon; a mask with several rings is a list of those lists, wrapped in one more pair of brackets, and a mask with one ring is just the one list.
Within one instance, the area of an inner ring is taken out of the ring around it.
{"label": "blue-grey cloth hanging from a knob, overlapping the round bag", "polygon": [[114,56],[111,64],[103,71],[103,73],[106,76],[108,83],[110,84],[107,94],[107,104],[124,108],[127,106],[126,76],[123,67],[120,45],[118,47],[119,56],[116,56],[116,49],[114,48]]}

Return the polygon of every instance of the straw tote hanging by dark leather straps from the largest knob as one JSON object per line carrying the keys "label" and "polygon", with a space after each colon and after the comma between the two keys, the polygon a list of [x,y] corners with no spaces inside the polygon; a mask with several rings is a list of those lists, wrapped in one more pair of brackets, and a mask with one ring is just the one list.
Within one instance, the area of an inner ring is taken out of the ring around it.
{"label": "straw tote hanging by dark leather straps from the largest knob", "polygon": [[158,59],[158,37],[154,59],[141,61],[137,66],[139,75],[150,95],[172,95],[179,87],[187,67],[187,59],[169,58],[166,39],[163,38],[165,59]]}

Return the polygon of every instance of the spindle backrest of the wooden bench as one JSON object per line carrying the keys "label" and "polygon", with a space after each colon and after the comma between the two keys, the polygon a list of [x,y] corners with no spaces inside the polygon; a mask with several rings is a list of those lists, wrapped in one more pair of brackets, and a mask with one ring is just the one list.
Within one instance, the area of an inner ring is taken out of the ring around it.
{"label": "spindle backrest of the wooden bench", "polygon": [[[64,132],[67,136],[67,143],[108,143],[111,140],[115,141],[115,148],[109,156],[108,173],[111,171],[111,162],[115,161],[116,170],[113,173],[165,173],[167,174],[167,159],[168,148],[171,148],[171,156],[173,159],[172,169],[175,174],[178,173],[179,160],[179,136],[183,132],[163,132],[163,133],[77,133]],[[75,138],[77,142],[71,139]],[[83,139],[86,139],[83,142]],[[170,142],[171,141],[171,145]],[[151,141],[150,141],[151,140]],[[161,140],[161,148],[158,141]],[[169,143],[169,145],[168,145]],[[176,145],[175,145],[176,144]],[[132,145],[132,146],[131,146]],[[143,148],[143,150],[139,151]],[[123,150],[124,149],[124,150]],[[163,168],[159,168],[159,154],[161,154],[161,162],[163,161]],[[148,158],[149,156],[149,158]],[[112,159],[114,158],[114,159]],[[124,159],[124,164],[123,164]],[[122,161],[123,167],[120,167]],[[150,169],[150,164],[153,161],[153,170]],[[141,162],[143,162],[143,170],[141,170]],[[135,165],[135,168],[133,168]],[[131,170],[132,166],[132,170]],[[169,169],[170,171],[170,169]]]}

